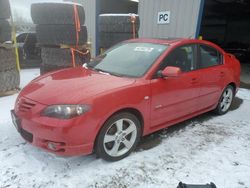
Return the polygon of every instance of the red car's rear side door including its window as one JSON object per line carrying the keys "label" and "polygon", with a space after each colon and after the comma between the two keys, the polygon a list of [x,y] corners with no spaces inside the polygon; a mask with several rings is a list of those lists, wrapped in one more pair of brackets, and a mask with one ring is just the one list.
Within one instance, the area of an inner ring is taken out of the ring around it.
{"label": "red car's rear side door including its window", "polygon": [[200,103],[198,110],[215,105],[225,85],[225,68],[222,54],[215,48],[199,45],[198,69],[201,74]]}

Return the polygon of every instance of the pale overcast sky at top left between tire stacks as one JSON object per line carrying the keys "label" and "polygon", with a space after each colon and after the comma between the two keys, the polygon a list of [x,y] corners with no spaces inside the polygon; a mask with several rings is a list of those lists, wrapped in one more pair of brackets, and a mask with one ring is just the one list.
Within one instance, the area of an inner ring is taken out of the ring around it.
{"label": "pale overcast sky at top left between tire stacks", "polygon": [[10,0],[13,16],[18,14],[25,18],[25,20],[31,21],[30,5],[32,3],[39,2],[62,2],[63,0]]}

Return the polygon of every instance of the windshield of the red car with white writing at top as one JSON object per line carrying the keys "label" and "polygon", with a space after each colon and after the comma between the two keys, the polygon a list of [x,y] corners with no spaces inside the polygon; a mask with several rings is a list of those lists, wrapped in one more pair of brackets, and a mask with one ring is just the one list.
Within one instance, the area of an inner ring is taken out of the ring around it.
{"label": "windshield of the red car with white writing at top", "polygon": [[95,58],[88,67],[117,76],[141,77],[166,48],[151,43],[122,43]]}

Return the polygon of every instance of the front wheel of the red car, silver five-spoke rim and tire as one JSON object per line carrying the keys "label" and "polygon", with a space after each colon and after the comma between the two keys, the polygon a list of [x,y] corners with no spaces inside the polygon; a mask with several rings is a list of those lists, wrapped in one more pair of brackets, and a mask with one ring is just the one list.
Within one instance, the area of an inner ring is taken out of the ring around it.
{"label": "front wheel of the red car, silver five-spoke rim and tire", "polygon": [[127,112],[118,113],[109,118],[101,128],[95,152],[104,160],[118,161],[136,148],[140,137],[141,124],[138,118]]}

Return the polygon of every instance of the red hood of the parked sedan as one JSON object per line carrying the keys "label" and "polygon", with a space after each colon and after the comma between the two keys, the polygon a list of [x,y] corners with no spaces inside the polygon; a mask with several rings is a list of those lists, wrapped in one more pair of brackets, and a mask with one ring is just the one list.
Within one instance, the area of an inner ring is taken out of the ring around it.
{"label": "red hood of the parked sedan", "polygon": [[86,68],[71,68],[38,77],[20,95],[45,105],[79,104],[134,82]]}

